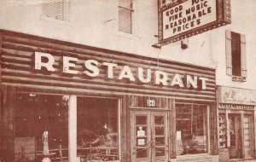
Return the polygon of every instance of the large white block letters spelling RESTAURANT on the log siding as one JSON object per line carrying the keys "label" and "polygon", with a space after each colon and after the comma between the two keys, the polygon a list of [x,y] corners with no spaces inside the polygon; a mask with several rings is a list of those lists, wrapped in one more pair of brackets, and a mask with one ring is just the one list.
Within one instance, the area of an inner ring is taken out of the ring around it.
{"label": "large white block letters spelling RESTAURANT on the log siding", "polygon": [[[35,52],[34,55],[34,69],[41,71],[42,68],[48,72],[62,71],[67,74],[83,73],[90,78],[96,78],[100,75],[101,69],[106,69],[107,72],[103,73],[108,79],[129,80],[131,82],[140,82],[143,84],[159,84],[162,86],[176,86],[179,88],[193,88],[199,90],[207,90],[208,78],[181,75],[179,73],[168,73],[151,68],[137,67],[137,72],[132,72],[131,67],[127,65],[119,66],[116,63],[107,61],[86,60],[83,62],[83,70],[78,70],[79,59],[70,56],[62,56],[62,69],[54,67],[55,57],[48,53]],[[117,72],[118,71],[118,72]],[[114,75],[118,73],[118,75]]]}

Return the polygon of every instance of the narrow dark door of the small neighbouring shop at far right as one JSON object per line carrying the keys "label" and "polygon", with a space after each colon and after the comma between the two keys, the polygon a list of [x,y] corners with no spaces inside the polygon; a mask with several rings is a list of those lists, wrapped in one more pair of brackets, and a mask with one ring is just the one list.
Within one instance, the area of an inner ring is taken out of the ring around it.
{"label": "narrow dark door of the small neighbouring shop at far right", "polygon": [[230,159],[241,158],[241,115],[230,113]]}

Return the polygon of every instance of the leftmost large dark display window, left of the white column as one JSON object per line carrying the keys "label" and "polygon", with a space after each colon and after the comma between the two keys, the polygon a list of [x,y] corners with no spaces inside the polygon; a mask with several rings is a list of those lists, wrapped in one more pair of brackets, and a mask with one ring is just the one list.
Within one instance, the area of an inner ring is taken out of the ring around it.
{"label": "leftmost large dark display window, left of the white column", "polygon": [[67,157],[68,96],[17,93],[15,95],[15,160],[22,153],[30,161]]}

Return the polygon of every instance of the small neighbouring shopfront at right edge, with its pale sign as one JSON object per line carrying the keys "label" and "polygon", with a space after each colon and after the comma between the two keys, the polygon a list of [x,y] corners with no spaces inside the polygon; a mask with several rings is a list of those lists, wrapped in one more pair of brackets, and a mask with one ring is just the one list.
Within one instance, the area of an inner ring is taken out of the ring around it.
{"label": "small neighbouring shopfront at right edge, with its pale sign", "polygon": [[255,157],[253,90],[218,86],[220,161]]}

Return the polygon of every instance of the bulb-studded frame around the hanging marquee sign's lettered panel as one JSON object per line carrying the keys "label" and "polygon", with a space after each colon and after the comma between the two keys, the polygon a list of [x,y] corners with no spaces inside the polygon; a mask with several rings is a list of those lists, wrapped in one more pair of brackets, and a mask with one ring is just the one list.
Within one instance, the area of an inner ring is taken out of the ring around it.
{"label": "bulb-studded frame around the hanging marquee sign's lettered panel", "polygon": [[163,12],[166,11],[166,9],[171,9],[178,4],[187,2],[189,0],[177,0],[174,3],[170,3],[167,5],[162,6],[162,0],[158,0],[158,43],[155,43],[152,45],[155,48],[160,48],[163,45],[177,42],[180,40],[183,40],[185,38],[189,38],[192,36],[195,36],[197,34],[200,34],[202,32],[207,32],[209,30],[212,30],[214,28],[218,28],[220,26],[225,26],[231,23],[231,7],[230,7],[230,0],[215,0],[216,1],[216,20],[207,23],[206,25],[198,26],[193,29],[189,29],[188,31],[181,32],[175,36],[171,36],[169,38],[164,38],[163,30]]}

